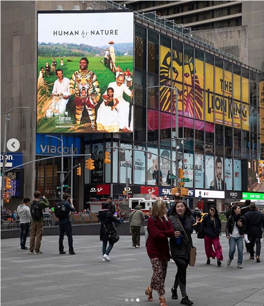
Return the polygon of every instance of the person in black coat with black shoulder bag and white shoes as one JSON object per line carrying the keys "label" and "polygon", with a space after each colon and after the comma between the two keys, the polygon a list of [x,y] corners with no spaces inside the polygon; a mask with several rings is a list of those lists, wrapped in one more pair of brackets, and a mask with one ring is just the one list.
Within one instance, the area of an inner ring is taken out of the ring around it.
{"label": "person in black coat with black shoulder bag and white shoes", "polygon": [[[111,261],[109,253],[113,249],[114,245],[110,244],[107,232],[115,230],[113,222],[121,223],[121,221],[119,221],[116,217],[114,217],[112,213],[109,211],[108,203],[102,204],[102,210],[98,212],[98,219],[101,222],[100,240],[103,241],[103,261]],[[109,242],[108,248],[107,248],[107,242]]]}

